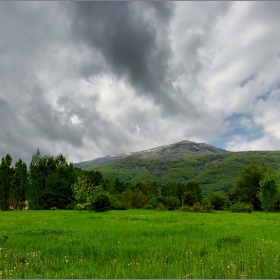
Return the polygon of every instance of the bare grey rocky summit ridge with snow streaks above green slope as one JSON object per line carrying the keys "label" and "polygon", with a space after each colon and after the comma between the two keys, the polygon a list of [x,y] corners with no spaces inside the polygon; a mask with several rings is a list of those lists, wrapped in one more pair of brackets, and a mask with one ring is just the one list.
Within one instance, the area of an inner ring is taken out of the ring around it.
{"label": "bare grey rocky summit ridge with snow streaks above green slope", "polygon": [[205,143],[196,143],[188,140],[183,140],[175,144],[160,146],[160,147],[151,148],[139,152],[113,154],[113,155],[93,159],[90,161],[75,163],[74,165],[76,167],[80,167],[84,169],[91,169],[104,164],[116,162],[118,160],[128,158],[128,157],[170,159],[170,158],[184,158],[184,157],[225,153],[225,152],[227,151],[224,149],[219,149],[217,147]]}

